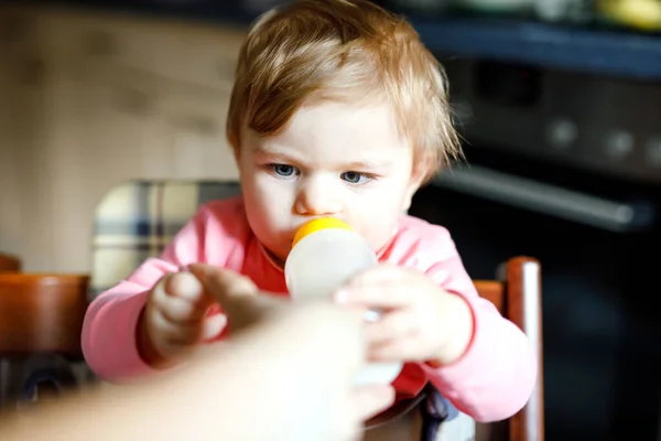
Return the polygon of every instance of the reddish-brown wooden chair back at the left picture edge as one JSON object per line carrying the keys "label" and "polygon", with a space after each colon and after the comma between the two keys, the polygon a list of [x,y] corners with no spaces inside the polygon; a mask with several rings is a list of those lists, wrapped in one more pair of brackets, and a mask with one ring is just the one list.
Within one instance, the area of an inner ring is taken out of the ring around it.
{"label": "reddish-brown wooden chair back at the left picture edge", "polygon": [[0,411],[55,397],[84,378],[74,365],[83,361],[88,280],[0,271]]}

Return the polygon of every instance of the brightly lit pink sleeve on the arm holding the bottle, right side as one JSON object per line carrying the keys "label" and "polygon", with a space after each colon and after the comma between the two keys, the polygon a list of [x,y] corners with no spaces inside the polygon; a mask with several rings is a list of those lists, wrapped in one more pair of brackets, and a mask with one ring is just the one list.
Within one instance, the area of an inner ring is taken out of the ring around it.
{"label": "brightly lit pink sleeve on the arm holding the bottle, right side", "polygon": [[525,334],[477,294],[448,234],[442,247],[446,250],[444,259],[426,273],[469,304],[473,340],[452,365],[423,365],[423,369],[444,397],[476,421],[507,419],[525,406],[532,394],[537,357]]}

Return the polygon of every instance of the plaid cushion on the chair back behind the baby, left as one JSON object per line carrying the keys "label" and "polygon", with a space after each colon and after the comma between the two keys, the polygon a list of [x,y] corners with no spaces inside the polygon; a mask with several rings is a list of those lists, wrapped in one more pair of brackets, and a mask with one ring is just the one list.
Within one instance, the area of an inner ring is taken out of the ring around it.
{"label": "plaid cushion on the chair back behind the baby, left", "polygon": [[227,181],[132,181],[110,190],[96,211],[90,298],[160,255],[201,204],[239,191]]}

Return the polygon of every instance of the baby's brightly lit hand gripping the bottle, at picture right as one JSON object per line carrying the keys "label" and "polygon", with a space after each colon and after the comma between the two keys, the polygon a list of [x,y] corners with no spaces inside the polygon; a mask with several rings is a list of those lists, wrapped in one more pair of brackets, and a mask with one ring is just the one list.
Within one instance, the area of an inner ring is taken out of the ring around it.
{"label": "baby's brightly lit hand gripping the bottle, at picture right", "polygon": [[466,301],[411,269],[377,266],[350,280],[336,300],[382,311],[366,326],[373,361],[449,364],[462,356],[473,336]]}

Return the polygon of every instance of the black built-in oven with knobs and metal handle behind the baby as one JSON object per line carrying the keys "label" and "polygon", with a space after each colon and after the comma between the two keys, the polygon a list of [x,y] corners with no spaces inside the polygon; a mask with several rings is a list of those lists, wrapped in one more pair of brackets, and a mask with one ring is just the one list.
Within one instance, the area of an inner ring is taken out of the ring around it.
{"label": "black built-in oven with knobs and metal handle behind the baby", "polygon": [[661,85],[444,60],[466,161],[415,196],[468,272],[543,279],[549,440],[653,440],[661,404]]}

